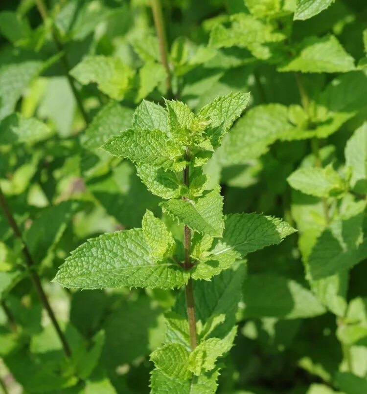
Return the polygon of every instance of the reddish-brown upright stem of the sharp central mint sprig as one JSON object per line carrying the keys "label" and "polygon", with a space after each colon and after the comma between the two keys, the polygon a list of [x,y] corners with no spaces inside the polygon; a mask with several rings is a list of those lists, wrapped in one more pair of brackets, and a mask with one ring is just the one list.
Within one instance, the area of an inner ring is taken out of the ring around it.
{"label": "reddish-brown upright stem of the sharp central mint sprig", "polygon": [[[186,148],[185,157],[189,156],[189,150]],[[189,186],[189,166],[187,165],[184,169],[184,184]],[[183,197],[184,198],[184,197]],[[184,226],[184,268],[186,270],[192,267],[190,259],[191,250],[191,230],[188,226]],[[188,328],[190,333],[190,346],[191,350],[194,350],[198,344],[196,334],[196,318],[195,318],[195,302],[194,302],[194,289],[192,285],[192,279],[189,278],[187,285],[185,285],[185,298],[188,318]]]}

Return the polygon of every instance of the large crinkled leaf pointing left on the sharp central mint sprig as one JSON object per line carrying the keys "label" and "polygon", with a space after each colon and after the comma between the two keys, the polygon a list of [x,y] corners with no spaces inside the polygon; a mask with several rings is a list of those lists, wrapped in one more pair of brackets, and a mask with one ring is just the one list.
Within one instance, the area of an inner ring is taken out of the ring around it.
{"label": "large crinkled leaf pointing left on the sharp central mint sprig", "polygon": [[104,234],[82,244],[60,267],[54,281],[65,287],[173,288],[187,282],[188,273],[171,261],[156,262],[141,229]]}

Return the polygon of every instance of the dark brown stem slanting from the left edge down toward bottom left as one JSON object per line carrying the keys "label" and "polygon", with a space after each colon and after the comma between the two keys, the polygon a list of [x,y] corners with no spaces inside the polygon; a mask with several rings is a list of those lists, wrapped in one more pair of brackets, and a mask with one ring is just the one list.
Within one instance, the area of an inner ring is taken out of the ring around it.
{"label": "dark brown stem slanting from the left edge down toward bottom left", "polygon": [[54,312],[53,312],[53,310],[52,310],[52,308],[51,308],[51,306],[50,306],[50,304],[49,304],[49,302],[47,300],[47,296],[46,296],[45,290],[42,287],[40,277],[38,276],[37,272],[35,271],[35,264],[33,262],[32,256],[31,256],[31,254],[29,252],[29,249],[28,249],[27,245],[25,244],[25,242],[23,240],[23,236],[22,236],[21,230],[18,227],[18,225],[17,225],[17,223],[16,223],[16,221],[15,221],[15,219],[14,219],[14,217],[13,217],[13,215],[12,215],[12,213],[11,213],[7,203],[6,203],[6,200],[5,200],[5,197],[4,197],[3,193],[2,193],[1,188],[0,188],[0,207],[1,207],[2,211],[4,212],[4,215],[5,215],[5,217],[6,217],[7,221],[8,221],[11,229],[14,232],[14,235],[16,237],[18,237],[23,243],[23,250],[22,250],[22,252],[23,252],[23,255],[24,255],[25,263],[27,264],[27,266],[29,268],[29,274],[30,274],[31,280],[33,282],[33,285],[34,285],[34,287],[35,287],[35,289],[37,291],[37,294],[38,294],[38,296],[39,296],[44,308],[47,311],[47,314],[48,314],[48,316],[49,316],[49,318],[50,318],[50,320],[51,320],[51,322],[52,322],[52,324],[53,324],[53,326],[54,326],[54,328],[55,328],[55,330],[57,332],[57,335],[59,336],[59,339],[60,339],[60,341],[61,341],[61,343],[63,345],[63,349],[64,349],[64,352],[65,352],[65,355],[67,357],[70,357],[71,356],[71,352],[70,352],[70,348],[69,348],[68,342],[67,342],[67,340],[66,340],[66,338],[64,336],[64,333],[62,332],[62,330],[61,330],[61,328],[60,328],[60,326],[59,326],[59,324],[58,324],[58,322],[56,320],[55,314],[54,314]]}

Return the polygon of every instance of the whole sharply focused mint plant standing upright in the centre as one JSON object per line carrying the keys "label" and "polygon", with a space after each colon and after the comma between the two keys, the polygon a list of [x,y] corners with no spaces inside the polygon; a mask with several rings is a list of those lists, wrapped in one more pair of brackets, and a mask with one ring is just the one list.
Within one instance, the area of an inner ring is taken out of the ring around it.
{"label": "whole sharply focused mint plant standing upright in the centre", "polygon": [[248,93],[229,93],[197,114],[180,101],[166,100],[165,109],[143,101],[131,128],[102,148],[135,163],[148,189],[165,200],[163,213],[182,224],[182,237],[174,238],[165,222],[147,210],[141,228],[104,234],[79,246],[55,278],[85,289],[185,288],[166,314],[164,345],[151,354],[156,367],[152,393],[163,387],[215,392],[217,359],[230,350],[236,335],[242,259],[295,231],[280,219],[258,214],[224,217],[220,186],[206,190],[203,165],[248,100]]}

